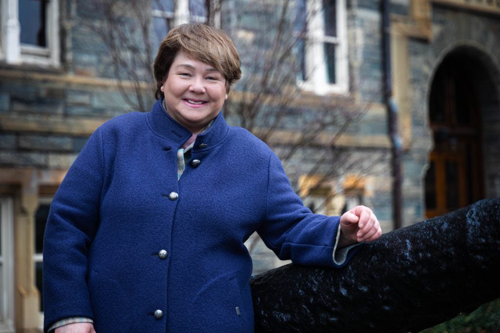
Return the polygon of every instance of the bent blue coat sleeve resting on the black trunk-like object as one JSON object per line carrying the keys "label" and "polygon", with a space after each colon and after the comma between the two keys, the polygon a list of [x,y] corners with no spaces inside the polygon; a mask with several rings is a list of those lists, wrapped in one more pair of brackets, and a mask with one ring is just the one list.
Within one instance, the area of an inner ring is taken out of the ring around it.
{"label": "bent blue coat sleeve resting on the black trunk-like object", "polygon": [[341,267],[356,252],[357,246],[336,249],[340,217],[313,214],[304,207],[273,153],[269,158],[265,198],[265,218],[257,232],[279,259],[291,259],[301,265]]}

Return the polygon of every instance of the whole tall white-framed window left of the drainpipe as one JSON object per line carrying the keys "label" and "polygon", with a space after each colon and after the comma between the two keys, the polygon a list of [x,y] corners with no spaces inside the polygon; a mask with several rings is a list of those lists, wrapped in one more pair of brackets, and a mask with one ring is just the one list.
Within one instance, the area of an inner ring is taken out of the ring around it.
{"label": "whole tall white-framed window left of the drainpipe", "polygon": [[323,95],[347,93],[345,0],[297,0],[298,82]]}

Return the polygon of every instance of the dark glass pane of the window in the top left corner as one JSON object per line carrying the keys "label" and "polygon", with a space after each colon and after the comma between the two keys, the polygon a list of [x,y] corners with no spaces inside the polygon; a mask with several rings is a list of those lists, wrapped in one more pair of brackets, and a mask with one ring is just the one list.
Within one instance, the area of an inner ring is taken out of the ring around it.
{"label": "dark glass pane of the window in the top left corner", "polygon": [[19,0],[20,41],[46,47],[46,9],[48,0]]}

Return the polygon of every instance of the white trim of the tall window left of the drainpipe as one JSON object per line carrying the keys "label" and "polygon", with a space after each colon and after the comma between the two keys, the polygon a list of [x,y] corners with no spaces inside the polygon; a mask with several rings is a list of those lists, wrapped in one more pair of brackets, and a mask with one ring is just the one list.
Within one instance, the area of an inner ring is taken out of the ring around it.
{"label": "white trim of the tall window left of the drainpipe", "polygon": [[[347,59],[347,26],[345,0],[336,0],[337,37],[324,35],[321,0],[307,0],[307,38],[305,40],[305,70],[307,80],[299,80],[298,86],[318,95],[327,93],[347,94],[349,88]],[[335,84],[327,82],[323,42],[336,44]]]}

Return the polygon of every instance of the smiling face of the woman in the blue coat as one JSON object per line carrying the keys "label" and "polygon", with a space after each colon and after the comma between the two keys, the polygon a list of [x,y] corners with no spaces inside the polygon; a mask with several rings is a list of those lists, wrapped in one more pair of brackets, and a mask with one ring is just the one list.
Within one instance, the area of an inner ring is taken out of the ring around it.
{"label": "smiling face of the woman in the blue coat", "polygon": [[161,91],[170,117],[199,133],[227,99],[224,76],[211,65],[177,53]]}

